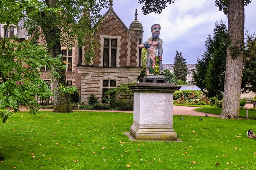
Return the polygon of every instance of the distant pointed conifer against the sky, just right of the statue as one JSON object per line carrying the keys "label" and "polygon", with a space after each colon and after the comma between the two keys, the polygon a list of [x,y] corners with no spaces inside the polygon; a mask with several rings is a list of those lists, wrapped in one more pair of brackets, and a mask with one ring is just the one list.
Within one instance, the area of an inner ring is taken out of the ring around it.
{"label": "distant pointed conifer against the sky, just right of the statue", "polygon": [[176,56],[174,57],[174,67],[173,73],[177,80],[186,81],[187,80],[187,64],[186,59],[181,55],[181,52],[176,51]]}

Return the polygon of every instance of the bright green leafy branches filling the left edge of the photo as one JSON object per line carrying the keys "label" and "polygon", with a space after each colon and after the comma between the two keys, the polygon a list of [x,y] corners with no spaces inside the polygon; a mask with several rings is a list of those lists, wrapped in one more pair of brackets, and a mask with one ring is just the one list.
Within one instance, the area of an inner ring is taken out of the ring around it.
{"label": "bright green leafy branches filling the left edge of the photo", "polygon": [[[31,9],[31,13],[37,13],[44,8],[41,2],[31,1],[9,1],[0,2],[0,23],[6,23],[4,35],[7,28],[16,27],[21,18],[26,17],[25,10]],[[31,42],[19,40],[13,36],[10,38],[0,36],[0,117],[3,123],[11,116],[12,112],[6,107],[19,111],[19,104],[29,107],[30,113],[37,113],[38,106],[36,98],[47,98],[52,95],[48,84],[40,78],[39,69],[47,65],[48,68],[64,69],[60,56],[50,57],[46,46],[34,45]],[[59,77],[56,70],[52,69],[52,76]],[[60,84],[62,87],[62,84]],[[55,95],[75,90],[62,87]]]}

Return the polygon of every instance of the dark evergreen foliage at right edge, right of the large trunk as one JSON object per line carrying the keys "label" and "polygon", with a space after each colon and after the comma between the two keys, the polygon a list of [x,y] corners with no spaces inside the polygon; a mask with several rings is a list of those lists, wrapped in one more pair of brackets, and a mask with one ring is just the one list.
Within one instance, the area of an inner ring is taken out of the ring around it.
{"label": "dark evergreen foliage at right edge, right of the large trunk", "polygon": [[242,92],[256,93],[256,35],[246,33],[244,50]]}

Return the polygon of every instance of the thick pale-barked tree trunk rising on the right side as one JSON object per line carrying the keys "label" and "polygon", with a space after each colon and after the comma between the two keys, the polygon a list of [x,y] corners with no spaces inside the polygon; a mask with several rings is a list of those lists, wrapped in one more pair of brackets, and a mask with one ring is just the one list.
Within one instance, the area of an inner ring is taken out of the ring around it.
{"label": "thick pale-barked tree trunk rising on the right side", "polygon": [[220,119],[238,119],[243,70],[244,0],[228,0],[228,32],[230,42]]}

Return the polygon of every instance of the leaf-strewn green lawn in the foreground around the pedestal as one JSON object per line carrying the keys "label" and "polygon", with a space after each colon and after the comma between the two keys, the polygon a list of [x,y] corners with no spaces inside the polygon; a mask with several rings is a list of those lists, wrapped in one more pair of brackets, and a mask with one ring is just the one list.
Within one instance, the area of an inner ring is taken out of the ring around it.
{"label": "leaf-strewn green lawn in the foreground around the pedestal", "polygon": [[0,124],[0,169],[256,169],[256,140],[247,138],[256,120],[180,117],[173,117],[173,127],[184,142],[152,142],[123,134],[131,113],[17,113]]}

